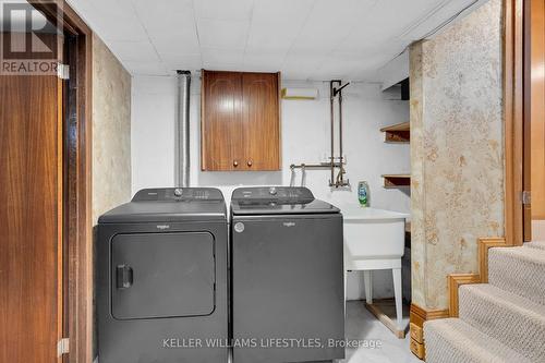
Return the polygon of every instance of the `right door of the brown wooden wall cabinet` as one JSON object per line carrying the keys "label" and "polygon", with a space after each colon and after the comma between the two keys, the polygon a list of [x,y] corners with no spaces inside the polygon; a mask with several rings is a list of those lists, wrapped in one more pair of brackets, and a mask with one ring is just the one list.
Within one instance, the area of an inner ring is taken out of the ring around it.
{"label": "right door of the brown wooden wall cabinet", "polygon": [[242,73],[243,170],[280,169],[278,73]]}

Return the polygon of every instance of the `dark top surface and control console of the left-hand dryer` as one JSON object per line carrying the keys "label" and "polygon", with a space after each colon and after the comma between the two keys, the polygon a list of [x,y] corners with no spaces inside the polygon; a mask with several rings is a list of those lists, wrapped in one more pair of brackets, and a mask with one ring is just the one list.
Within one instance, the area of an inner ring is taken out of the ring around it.
{"label": "dark top surface and control console of the left-hand dryer", "polygon": [[130,203],[98,218],[99,223],[227,220],[223,195],[215,187],[145,189]]}

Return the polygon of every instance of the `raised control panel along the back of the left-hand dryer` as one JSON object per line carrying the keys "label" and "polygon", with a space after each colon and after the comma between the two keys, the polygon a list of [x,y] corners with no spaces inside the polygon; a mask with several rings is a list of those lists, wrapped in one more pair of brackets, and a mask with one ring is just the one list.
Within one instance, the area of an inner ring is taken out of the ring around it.
{"label": "raised control panel along the back of the left-hand dryer", "polygon": [[215,187],[159,187],[138,191],[132,202],[201,202],[223,201]]}

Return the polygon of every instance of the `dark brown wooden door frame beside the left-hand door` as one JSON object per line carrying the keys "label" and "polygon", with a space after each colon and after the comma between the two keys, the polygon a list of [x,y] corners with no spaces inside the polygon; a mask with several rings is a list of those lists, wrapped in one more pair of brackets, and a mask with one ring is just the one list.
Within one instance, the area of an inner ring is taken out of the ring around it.
{"label": "dark brown wooden door frame beside the left-hand door", "polygon": [[[73,186],[73,195],[64,205],[73,210],[73,223],[65,231],[64,267],[64,337],[70,339],[70,353],[64,362],[93,361],[93,225],[92,225],[92,51],[93,32],[65,0],[29,0],[29,3],[57,24],[62,16],[62,28],[77,39],[74,70],[76,89],[76,133],[65,143],[66,154],[74,156],[68,165],[65,189]],[[61,14],[57,10],[61,9]],[[72,70],[71,70],[72,71]],[[64,142],[64,141],[63,141]],[[66,218],[66,217],[64,217]],[[66,291],[68,290],[68,291]]]}

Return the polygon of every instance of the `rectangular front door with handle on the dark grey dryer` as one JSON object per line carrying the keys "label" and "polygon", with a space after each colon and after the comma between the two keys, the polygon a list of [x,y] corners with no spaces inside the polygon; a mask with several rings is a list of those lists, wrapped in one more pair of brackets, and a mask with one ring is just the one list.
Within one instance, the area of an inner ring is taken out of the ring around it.
{"label": "rectangular front door with handle on the dark grey dryer", "polygon": [[215,243],[208,232],[117,234],[111,242],[111,313],[117,319],[209,315]]}

